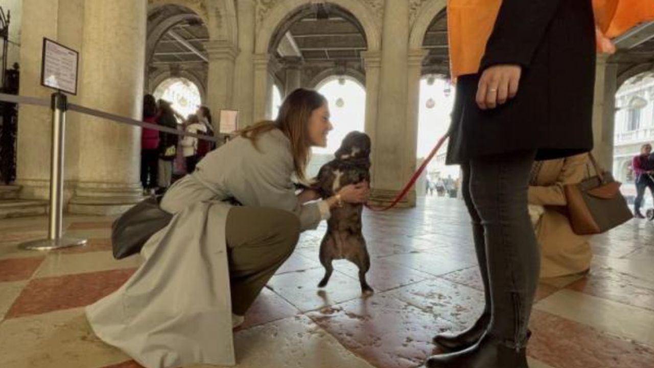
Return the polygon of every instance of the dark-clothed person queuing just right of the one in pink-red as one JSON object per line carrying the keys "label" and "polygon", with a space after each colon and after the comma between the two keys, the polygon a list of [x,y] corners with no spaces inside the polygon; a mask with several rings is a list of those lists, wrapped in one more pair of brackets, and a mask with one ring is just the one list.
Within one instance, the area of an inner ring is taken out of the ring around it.
{"label": "dark-clothed person queuing just right of the one in pink-red", "polygon": [[[168,101],[159,100],[159,117],[157,124],[177,129],[175,111]],[[165,192],[173,180],[173,160],[177,156],[179,137],[172,133],[160,132],[158,184],[160,192]]]}

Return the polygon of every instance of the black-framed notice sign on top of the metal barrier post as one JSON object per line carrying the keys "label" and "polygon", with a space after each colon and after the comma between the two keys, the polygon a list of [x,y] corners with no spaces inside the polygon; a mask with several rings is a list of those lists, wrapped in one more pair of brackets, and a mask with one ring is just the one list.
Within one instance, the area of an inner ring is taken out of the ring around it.
{"label": "black-framed notice sign on top of the metal barrier post", "polygon": [[41,60],[41,85],[77,94],[77,51],[44,38]]}

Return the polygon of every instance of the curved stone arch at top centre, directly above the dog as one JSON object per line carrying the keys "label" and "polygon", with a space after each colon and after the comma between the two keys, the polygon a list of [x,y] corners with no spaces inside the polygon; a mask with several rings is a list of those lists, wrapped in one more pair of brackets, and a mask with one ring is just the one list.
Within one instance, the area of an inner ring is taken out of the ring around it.
{"label": "curved stone arch at top centre, directly above the dog", "polygon": [[[328,2],[350,12],[363,29],[368,50],[379,51],[381,48],[381,24],[370,9],[359,1],[330,0]],[[258,33],[254,44],[256,54],[267,54],[273,44],[273,37],[279,33],[278,30],[284,22],[297,14],[298,10],[312,3],[311,0],[282,0],[273,9],[270,9],[261,24],[258,24]]]}

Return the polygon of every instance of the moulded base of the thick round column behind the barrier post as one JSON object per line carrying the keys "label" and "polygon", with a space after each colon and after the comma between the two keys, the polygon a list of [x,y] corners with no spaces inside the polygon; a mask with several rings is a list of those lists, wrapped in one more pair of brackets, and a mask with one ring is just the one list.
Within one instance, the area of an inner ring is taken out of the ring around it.
{"label": "moulded base of the thick round column behind the barrier post", "polygon": [[80,215],[120,215],[143,200],[141,185],[80,183],[68,202],[68,213]]}

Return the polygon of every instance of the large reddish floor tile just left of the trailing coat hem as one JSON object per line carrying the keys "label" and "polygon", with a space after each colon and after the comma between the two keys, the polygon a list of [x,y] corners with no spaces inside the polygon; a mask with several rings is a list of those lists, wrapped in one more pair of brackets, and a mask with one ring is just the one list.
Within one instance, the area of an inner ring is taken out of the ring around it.
{"label": "large reddish floor tile just left of the trailing coat hem", "polygon": [[135,269],[131,268],[33,279],[23,289],[5,318],[42,314],[95,303],[118,289],[134,271]]}

